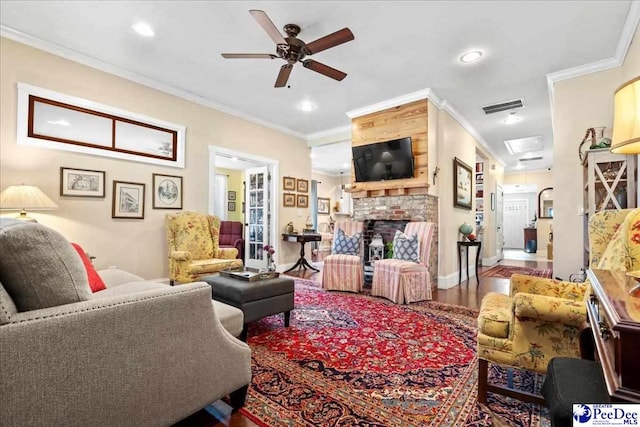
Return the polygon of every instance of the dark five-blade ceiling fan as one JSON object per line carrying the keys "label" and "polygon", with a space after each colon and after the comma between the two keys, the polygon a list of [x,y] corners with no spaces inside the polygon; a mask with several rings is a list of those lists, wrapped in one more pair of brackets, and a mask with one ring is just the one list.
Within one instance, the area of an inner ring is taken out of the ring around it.
{"label": "dark five-blade ceiling fan", "polygon": [[305,43],[297,36],[300,33],[300,27],[296,24],[287,24],[283,27],[287,37],[282,37],[280,31],[271,22],[271,19],[262,10],[250,10],[249,13],[258,21],[262,29],[276,42],[276,54],[271,53],[223,53],[222,57],[227,59],[276,59],[282,58],[287,61],[280,67],[280,73],[276,78],[275,87],[284,87],[289,80],[289,75],[296,62],[302,62],[305,68],[323,74],[332,79],[341,81],[347,77],[346,73],[329,67],[313,59],[304,59],[307,55],[313,55],[323,50],[327,50],[334,46],[341,45],[354,39],[353,33],[348,28],[343,28],[321,37],[311,43]]}

